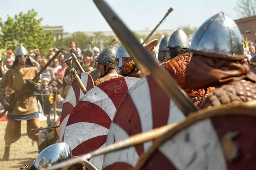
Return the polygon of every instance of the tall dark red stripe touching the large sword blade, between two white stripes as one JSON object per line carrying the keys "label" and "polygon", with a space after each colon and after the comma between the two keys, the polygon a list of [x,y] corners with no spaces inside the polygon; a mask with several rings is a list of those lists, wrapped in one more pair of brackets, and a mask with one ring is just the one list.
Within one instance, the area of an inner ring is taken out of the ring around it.
{"label": "tall dark red stripe touching the large sword blade, between two white stripes", "polygon": [[169,105],[170,98],[166,93],[158,86],[157,82],[151,75],[147,76],[151,108],[153,117],[153,129],[166,125],[169,118]]}

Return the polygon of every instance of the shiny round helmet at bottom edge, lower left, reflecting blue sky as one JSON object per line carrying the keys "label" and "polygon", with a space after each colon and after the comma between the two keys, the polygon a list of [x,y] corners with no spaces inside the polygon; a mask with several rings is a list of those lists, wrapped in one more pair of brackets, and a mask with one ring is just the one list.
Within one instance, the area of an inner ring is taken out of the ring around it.
{"label": "shiny round helmet at bottom edge, lower left, reflecting blue sky", "polygon": [[[72,152],[66,143],[52,144],[39,153],[33,165],[36,169],[41,169],[58,164],[61,161],[69,160],[70,158],[72,158]],[[64,167],[62,169],[66,170],[67,168]]]}

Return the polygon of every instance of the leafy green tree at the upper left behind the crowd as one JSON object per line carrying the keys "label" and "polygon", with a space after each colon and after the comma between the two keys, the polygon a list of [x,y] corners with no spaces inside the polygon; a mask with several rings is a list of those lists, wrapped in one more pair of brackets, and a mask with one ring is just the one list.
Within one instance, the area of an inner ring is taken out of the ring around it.
{"label": "leafy green tree at the upper left behind the crowd", "polygon": [[43,32],[43,18],[36,19],[37,14],[32,9],[27,13],[15,14],[14,18],[8,15],[4,23],[0,19],[0,46],[15,51],[19,45],[23,45],[28,50],[39,49],[42,56],[46,55],[53,46],[53,34]]}

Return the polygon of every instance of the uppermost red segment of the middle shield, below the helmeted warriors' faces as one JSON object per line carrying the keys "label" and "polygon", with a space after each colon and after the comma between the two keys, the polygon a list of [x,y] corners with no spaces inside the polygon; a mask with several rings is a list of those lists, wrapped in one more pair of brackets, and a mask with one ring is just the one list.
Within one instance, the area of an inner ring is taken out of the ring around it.
{"label": "uppermost red segment of the middle shield, below the helmeted warriors' faces", "polygon": [[128,91],[128,86],[123,77],[110,79],[99,84],[98,87],[111,98],[115,107],[119,106]]}

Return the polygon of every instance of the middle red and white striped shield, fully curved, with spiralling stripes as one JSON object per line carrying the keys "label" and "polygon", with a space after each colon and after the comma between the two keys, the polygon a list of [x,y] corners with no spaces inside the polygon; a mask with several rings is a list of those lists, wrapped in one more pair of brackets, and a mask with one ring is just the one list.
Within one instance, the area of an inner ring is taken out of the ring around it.
{"label": "middle red and white striped shield, fully curved, with spiralling stripes", "polygon": [[[103,147],[109,127],[122,98],[139,78],[120,77],[105,81],[87,92],[70,114],[64,132],[74,156]],[[90,159],[102,168],[103,156]]]}

